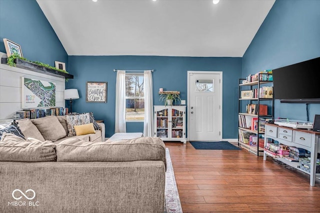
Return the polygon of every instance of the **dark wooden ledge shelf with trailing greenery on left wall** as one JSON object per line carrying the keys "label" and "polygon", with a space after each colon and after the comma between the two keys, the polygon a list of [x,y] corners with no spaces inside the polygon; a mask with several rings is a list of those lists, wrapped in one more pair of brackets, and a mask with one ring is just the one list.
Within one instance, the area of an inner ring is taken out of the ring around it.
{"label": "dark wooden ledge shelf with trailing greenery on left wall", "polygon": [[[44,74],[48,74],[48,75],[56,76],[56,77],[73,78],[72,74],[61,72],[61,71],[47,68],[44,66],[40,66],[38,64],[29,62],[29,61],[25,61],[25,60],[21,60],[21,59],[14,59],[14,61],[15,61],[16,67],[18,67],[18,68],[27,69],[27,70],[31,70],[31,71],[35,71],[35,72],[40,72],[40,73],[44,73]],[[1,63],[6,64],[7,58],[2,57]]]}

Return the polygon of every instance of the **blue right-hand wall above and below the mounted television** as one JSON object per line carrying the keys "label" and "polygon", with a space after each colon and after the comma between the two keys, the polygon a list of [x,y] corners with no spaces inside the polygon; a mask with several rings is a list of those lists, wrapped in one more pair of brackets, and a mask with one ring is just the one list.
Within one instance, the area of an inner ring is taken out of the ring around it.
{"label": "blue right-hand wall above and below the mounted television", "polygon": [[[320,1],[276,0],[243,55],[242,76],[319,56]],[[305,103],[275,100],[274,107],[275,118],[306,120]],[[320,104],[310,104],[311,121],[314,114],[320,114]]]}

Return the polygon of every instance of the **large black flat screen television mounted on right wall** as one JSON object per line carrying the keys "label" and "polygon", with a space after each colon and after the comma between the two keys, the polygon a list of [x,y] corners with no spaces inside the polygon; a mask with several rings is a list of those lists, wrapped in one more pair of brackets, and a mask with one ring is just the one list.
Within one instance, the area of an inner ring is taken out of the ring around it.
{"label": "large black flat screen television mounted on right wall", "polygon": [[272,76],[275,99],[320,103],[320,57],[273,69]]}

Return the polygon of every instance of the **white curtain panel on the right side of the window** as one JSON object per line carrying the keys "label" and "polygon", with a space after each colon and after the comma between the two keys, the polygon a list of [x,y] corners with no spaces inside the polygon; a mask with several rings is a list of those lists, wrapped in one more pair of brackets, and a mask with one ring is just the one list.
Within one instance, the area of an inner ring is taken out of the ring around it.
{"label": "white curtain panel on the right side of the window", "polygon": [[144,70],[144,124],[143,136],[153,136],[153,96],[151,70]]}

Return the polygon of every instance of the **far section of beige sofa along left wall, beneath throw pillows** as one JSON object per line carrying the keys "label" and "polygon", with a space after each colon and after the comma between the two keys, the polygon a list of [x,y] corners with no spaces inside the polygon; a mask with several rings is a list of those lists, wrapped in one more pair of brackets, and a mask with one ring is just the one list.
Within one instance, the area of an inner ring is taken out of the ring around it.
{"label": "far section of beige sofa along left wall, beneath throw pillows", "polygon": [[67,121],[66,116],[46,116],[36,119],[20,119],[18,126],[24,136],[36,138],[38,140],[50,140],[54,143],[59,143],[67,138],[80,138],[85,141],[100,142],[105,140],[104,123],[97,123],[100,130],[95,130],[95,133],[85,135],[67,136]]}

